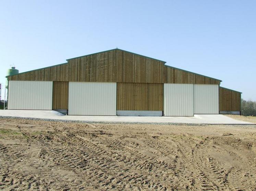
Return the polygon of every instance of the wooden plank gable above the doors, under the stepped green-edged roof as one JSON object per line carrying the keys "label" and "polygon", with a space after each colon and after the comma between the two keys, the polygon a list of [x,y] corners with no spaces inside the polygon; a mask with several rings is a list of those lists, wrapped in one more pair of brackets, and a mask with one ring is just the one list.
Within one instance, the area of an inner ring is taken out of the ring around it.
{"label": "wooden plank gable above the doors, under the stepped green-edged roof", "polygon": [[221,80],[164,65],[164,61],[113,49],[68,63],[9,76],[9,80],[220,84]]}

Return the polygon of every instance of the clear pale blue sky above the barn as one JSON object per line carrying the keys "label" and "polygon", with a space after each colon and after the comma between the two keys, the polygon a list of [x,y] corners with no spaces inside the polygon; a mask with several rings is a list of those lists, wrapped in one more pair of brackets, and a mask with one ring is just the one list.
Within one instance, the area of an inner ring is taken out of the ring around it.
{"label": "clear pale blue sky above the barn", "polygon": [[221,79],[256,101],[256,1],[0,0],[0,82],[118,47]]}

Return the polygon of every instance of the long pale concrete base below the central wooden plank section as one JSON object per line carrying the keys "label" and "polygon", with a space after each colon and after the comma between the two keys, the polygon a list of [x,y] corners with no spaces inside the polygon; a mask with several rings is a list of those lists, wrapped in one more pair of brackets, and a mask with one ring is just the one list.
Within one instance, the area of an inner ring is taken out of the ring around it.
{"label": "long pale concrete base below the central wooden plank section", "polygon": [[117,110],[117,116],[163,116],[162,111],[125,111]]}

